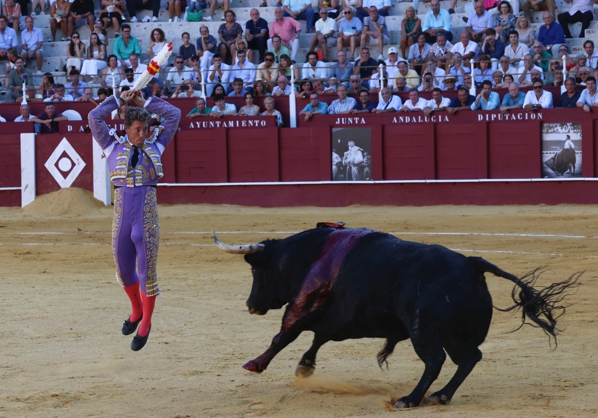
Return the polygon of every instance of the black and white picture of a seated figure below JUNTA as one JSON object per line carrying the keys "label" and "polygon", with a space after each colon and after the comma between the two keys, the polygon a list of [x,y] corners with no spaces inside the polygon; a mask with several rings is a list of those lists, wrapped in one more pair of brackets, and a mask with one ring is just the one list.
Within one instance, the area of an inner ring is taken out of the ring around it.
{"label": "black and white picture of a seated figure below JUNTA", "polygon": [[370,128],[332,129],[332,181],[372,179]]}

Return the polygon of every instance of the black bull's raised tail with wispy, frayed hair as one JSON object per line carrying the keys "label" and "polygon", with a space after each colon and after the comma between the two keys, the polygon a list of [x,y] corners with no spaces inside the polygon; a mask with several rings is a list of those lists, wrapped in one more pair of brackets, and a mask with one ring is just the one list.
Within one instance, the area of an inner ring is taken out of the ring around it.
{"label": "black bull's raised tail with wispy, frayed hair", "polygon": [[[554,340],[554,348],[556,348],[557,334],[560,333],[557,328],[557,319],[565,314],[565,309],[568,306],[565,303],[565,298],[571,294],[575,294],[578,286],[579,276],[582,272],[574,273],[568,279],[562,282],[556,282],[547,287],[533,287],[538,277],[543,271],[537,268],[530,271],[522,278],[507,273],[492,263],[487,262],[481,257],[468,257],[481,273],[489,272],[495,276],[502,277],[514,282],[515,286],[511,292],[511,297],[515,305],[499,309],[499,311],[508,312],[512,309],[521,308],[521,328],[524,324],[532,325],[536,328],[542,328],[547,334],[550,341]],[[517,291],[519,288],[519,291]],[[532,322],[527,321],[529,319]],[[515,330],[515,331],[517,331]]]}

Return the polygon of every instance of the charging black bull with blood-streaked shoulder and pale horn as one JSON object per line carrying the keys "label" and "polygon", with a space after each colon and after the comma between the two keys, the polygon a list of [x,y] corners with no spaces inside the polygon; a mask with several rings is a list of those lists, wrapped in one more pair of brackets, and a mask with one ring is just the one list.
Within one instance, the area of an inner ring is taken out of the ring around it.
{"label": "charging black bull with blood-streaked shoulder and pale horn", "polygon": [[385,338],[377,356],[382,367],[396,343],[411,339],[425,369],[413,392],[396,402],[397,408],[420,404],[448,354],[457,371],[428,398],[446,404],[482,358],[478,346],[492,318],[484,273],[514,282],[514,305],[504,310],[521,309],[519,328],[525,323],[542,328],[555,347],[560,331],[556,321],[566,308],[563,299],[573,293],[581,275],[533,287],[538,270],[518,278],[480,257],[466,257],[441,245],[402,241],[367,228],[344,228],[342,223],[318,226],[285,239],[246,245],[224,244],[214,233],[219,248],[245,254],[251,265],[250,314],[264,315],[288,304],[270,347],[243,368],[266,370],[303,331],[315,335],[295,370],[300,377],[313,374],[316,353],[328,341]]}

